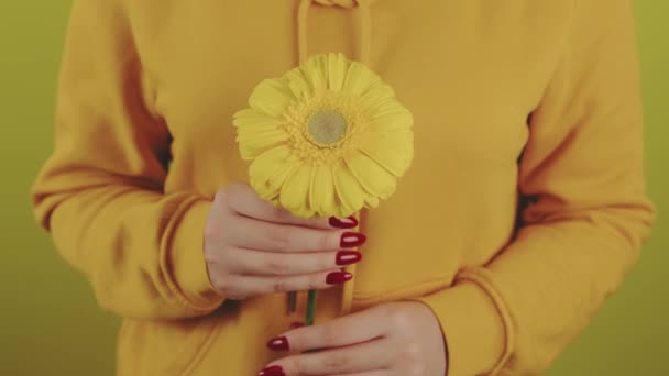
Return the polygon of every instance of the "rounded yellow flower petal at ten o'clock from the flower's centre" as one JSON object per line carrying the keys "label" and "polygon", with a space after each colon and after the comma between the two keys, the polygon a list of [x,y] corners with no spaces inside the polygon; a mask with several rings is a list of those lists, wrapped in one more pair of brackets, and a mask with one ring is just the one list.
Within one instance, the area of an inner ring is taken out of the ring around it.
{"label": "rounded yellow flower petal at ten o'clock from the flower's centre", "polygon": [[286,79],[270,78],[260,82],[251,97],[249,106],[273,117],[283,117],[290,101],[295,99]]}

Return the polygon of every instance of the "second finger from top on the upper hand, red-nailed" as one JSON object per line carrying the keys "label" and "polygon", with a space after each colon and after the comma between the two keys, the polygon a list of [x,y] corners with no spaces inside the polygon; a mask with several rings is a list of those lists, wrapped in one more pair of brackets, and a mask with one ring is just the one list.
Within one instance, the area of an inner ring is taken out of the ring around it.
{"label": "second finger from top on the upper hand, red-nailed", "polygon": [[338,251],[364,243],[365,237],[346,230],[316,230],[295,225],[263,222],[238,217],[234,229],[227,229],[232,245],[244,250],[268,252]]}

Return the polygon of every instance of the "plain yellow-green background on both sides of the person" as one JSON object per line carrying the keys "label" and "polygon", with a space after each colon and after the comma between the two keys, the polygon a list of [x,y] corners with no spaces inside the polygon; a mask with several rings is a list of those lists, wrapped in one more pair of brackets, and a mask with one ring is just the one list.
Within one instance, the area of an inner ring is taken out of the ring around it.
{"label": "plain yellow-green background on both sides of the person", "polygon": [[[52,147],[68,8],[0,0],[0,375],[113,372],[119,321],[98,310],[29,210],[30,184]],[[660,215],[626,285],[549,375],[669,375],[669,1],[637,0],[636,13],[647,175]]]}

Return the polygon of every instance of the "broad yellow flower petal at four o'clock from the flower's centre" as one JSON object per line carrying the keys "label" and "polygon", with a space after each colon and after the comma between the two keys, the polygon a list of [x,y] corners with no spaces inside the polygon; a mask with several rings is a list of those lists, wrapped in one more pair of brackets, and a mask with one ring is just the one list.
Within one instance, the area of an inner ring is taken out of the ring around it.
{"label": "broad yellow flower petal at four o'clock from the flower's centre", "polygon": [[395,177],[409,168],[414,158],[414,133],[410,131],[373,133],[361,152]]}

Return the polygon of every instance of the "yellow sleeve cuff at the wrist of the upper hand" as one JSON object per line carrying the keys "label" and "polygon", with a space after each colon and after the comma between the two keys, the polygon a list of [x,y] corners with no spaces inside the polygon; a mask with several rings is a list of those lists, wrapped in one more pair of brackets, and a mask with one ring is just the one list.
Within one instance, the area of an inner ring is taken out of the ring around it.
{"label": "yellow sleeve cuff at the wrist of the upper hand", "polygon": [[197,311],[211,311],[224,300],[213,287],[204,253],[204,232],[211,203],[196,201],[184,213],[174,234],[169,265],[176,288]]}

